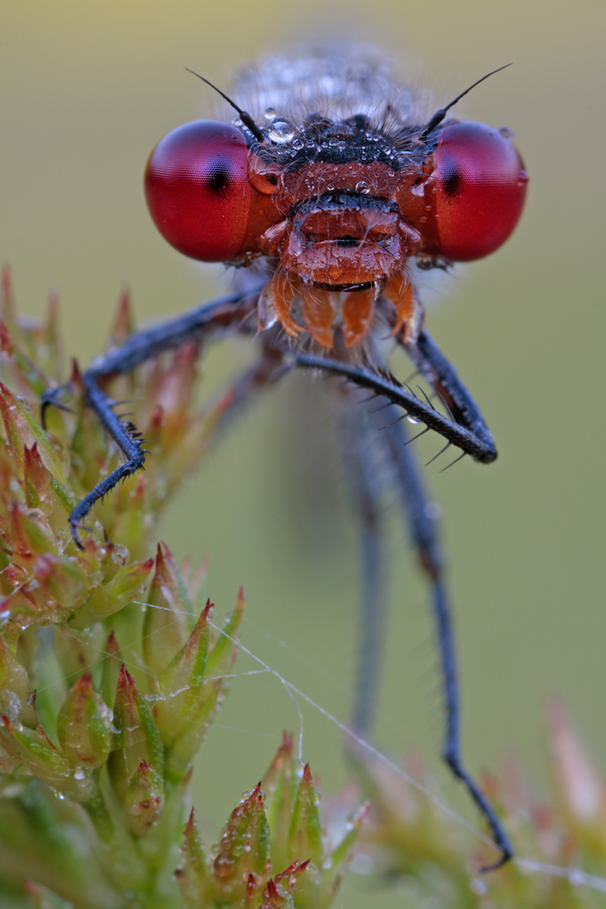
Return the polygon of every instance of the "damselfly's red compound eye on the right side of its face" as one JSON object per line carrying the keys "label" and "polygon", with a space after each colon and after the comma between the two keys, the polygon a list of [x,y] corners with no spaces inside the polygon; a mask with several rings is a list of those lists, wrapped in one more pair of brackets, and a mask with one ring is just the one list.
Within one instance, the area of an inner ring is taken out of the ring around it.
{"label": "damselfly's red compound eye on the right side of its face", "polygon": [[488,256],[510,236],[528,174],[510,136],[470,121],[444,126],[435,154],[435,213],[442,255]]}

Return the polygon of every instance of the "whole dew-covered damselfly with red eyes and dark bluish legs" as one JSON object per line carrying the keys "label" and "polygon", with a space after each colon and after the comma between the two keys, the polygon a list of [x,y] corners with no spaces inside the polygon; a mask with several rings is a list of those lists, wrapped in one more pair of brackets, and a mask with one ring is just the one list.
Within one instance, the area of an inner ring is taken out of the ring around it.
{"label": "whole dew-covered damselfly with red eyes and dark bluish legs", "polygon": [[[116,414],[107,379],[191,338],[228,331],[255,338],[258,349],[255,365],[234,382],[229,409],[292,369],[345,379],[324,385],[338,415],[363,538],[365,648],[352,726],[368,735],[376,705],[380,498],[388,481],[431,589],[447,719],[444,759],[489,823],[500,850],[490,867],[497,867],[512,850],[461,760],[439,540],[401,418],[422,424],[418,435],[439,433],[460,457],[484,463],[497,457],[480,410],[424,328],[416,276],[500,247],[520,217],[528,176],[509,130],[449,117],[467,92],[424,112],[422,98],[400,85],[385,57],[366,48],[269,57],[238,79],[231,97],[219,94],[236,111],[233,120],[198,120],[165,136],[147,162],[145,189],[168,242],[191,258],[234,266],[234,289],[131,335],[86,370],[86,404],[126,460],[76,506],[72,534],[81,545],[82,521],[96,500],[140,470],[146,456],[135,427]],[[389,372],[394,345],[435,389],[441,409]],[[376,401],[360,400],[360,388],[383,399],[380,416]],[[43,409],[59,399],[54,389]],[[377,450],[387,470],[376,469]]]}

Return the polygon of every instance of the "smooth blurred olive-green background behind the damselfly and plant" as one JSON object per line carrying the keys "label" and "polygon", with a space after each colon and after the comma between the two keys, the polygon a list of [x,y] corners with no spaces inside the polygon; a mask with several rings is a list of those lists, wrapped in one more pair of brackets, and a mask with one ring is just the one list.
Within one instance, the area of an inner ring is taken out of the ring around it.
{"label": "smooth blurred olive-green background behind the damselfly and plant", "polygon": [[[301,35],[362,35],[444,101],[514,63],[457,114],[512,127],[530,171],[527,210],[506,247],[449,279],[428,320],[479,400],[500,459],[490,467],[466,459],[443,474],[438,463],[425,476],[444,510],[470,768],[497,770],[516,752],[539,778],[542,704],[554,693],[606,754],[602,0],[4,0],[0,23],[0,258],[13,267],[22,311],[41,312],[47,288],[59,290],[67,348],[82,362],[102,347],[126,284],[140,320],[175,314],[221,286],[222,267],[200,268],[168,247],[143,200],[157,139],[216,103],[183,66],[225,87],[235,68]],[[248,355],[246,342],[217,347],[207,379]],[[209,556],[220,612],[244,583],[247,647],[343,720],[356,539],[334,442],[306,384],[288,379],[234,428],[174,503],[165,538],[179,557]],[[425,591],[395,509],[389,529],[377,738],[389,753],[419,749],[437,766]],[[334,791],[338,731],[305,703],[301,710],[304,756]],[[282,728],[298,724],[275,676],[234,683],[197,773],[209,829],[257,783]],[[439,773],[448,798],[476,820]],[[369,899],[354,881],[342,904]],[[371,899],[399,904],[393,894]]]}

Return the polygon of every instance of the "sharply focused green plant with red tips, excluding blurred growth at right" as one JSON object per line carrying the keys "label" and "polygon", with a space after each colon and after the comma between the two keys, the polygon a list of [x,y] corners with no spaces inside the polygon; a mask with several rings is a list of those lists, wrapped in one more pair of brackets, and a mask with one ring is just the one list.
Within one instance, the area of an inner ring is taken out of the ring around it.
{"label": "sharply focused green plant with red tips, excluding blurred growth at right", "polygon": [[[20,321],[5,274],[2,304],[2,898],[20,904],[26,886],[39,907],[328,906],[362,813],[326,845],[318,790],[288,737],[215,846],[184,814],[244,609],[240,591],[215,630],[204,569],[179,571],[165,544],[149,556],[158,515],[223,406],[192,406],[195,345],[116,382],[131,398],[136,383],[154,458],[96,510],[78,550],[67,516],[116,452],[83,408],[76,368],[69,409],[41,428],[37,401],[60,373],[56,301],[44,323]],[[114,340],[129,321],[123,298]]]}

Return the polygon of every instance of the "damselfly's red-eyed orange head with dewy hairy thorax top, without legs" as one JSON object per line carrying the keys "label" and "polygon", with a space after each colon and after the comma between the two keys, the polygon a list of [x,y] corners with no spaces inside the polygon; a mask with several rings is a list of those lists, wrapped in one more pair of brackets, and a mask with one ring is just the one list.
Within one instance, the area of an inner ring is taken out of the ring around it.
{"label": "damselfly's red-eyed orange head with dewy hairy thorax top, without legs", "polygon": [[528,176],[509,130],[428,122],[378,57],[269,58],[234,96],[250,114],[158,143],[146,198],[187,256],[265,259],[259,328],[341,353],[378,326],[415,341],[410,265],[481,258],[518,222]]}

